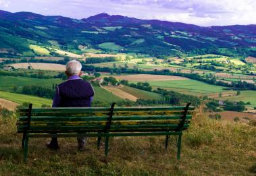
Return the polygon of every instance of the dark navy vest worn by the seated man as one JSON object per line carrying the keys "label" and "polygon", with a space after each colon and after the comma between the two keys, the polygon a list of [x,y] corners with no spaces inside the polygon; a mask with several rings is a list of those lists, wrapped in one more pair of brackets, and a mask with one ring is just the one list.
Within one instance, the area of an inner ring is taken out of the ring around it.
{"label": "dark navy vest worn by the seated man", "polygon": [[90,83],[78,79],[59,84],[59,107],[91,107],[94,90]]}

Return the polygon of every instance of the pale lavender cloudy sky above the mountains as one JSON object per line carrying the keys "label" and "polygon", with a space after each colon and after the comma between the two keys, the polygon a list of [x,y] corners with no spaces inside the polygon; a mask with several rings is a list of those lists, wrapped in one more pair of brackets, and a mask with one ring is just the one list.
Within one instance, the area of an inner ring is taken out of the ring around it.
{"label": "pale lavender cloudy sky above the mountains", "polygon": [[0,9],[76,19],[105,12],[199,26],[256,24],[256,0],[0,0]]}

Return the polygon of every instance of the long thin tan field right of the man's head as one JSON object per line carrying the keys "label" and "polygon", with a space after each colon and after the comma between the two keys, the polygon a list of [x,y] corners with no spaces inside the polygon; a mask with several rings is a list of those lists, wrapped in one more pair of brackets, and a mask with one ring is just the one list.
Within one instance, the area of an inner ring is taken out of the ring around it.
{"label": "long thin tan field right of the man's head", "polygon": [[130,82],[145,82],[145,81],[170,81],[170,80],[189,80],[181,76],[163,76],[149,74],[134,74],[126,76],[113,76],[118,80],[128,80]]}

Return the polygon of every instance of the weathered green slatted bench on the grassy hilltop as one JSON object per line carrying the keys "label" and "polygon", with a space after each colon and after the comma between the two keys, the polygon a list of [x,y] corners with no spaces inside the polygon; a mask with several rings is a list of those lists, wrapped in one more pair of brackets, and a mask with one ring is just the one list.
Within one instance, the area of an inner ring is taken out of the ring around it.
{"label": "weathered green slatted bench on the grassy hilltop", "polygon": [[33,108],[20,109],[18,133],[23,134],[24,161],[28,155],[29,138],[76,137],[82,134],[105,139],[108,154],[109,137],[165,136],[165,149],[171,135],[177,138],[177,158],[180,159],[182,131],[187,129],[194,111],[184,107],[117,107],[110,108]]}

